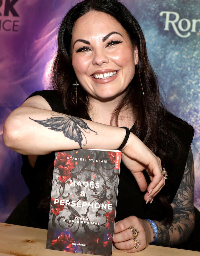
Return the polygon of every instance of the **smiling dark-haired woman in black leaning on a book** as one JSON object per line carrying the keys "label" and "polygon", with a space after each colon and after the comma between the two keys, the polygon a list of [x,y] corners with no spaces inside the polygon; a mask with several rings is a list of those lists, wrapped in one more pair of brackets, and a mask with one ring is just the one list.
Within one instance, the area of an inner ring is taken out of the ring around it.
{"label": "smiling dark-haired woman in black leaning on a book", "polygon": [[[194,131],[161,106],[144,35],[126,7],[115,0],[86,0],[66,14],[52,83],[55,91],[32,94],[4,126],[5,144],[23,154],[30,189],[22,225],[47,228],[48,210],[41,202],[50,196],[51,152],[122,144],[116,248],[136,252],[149,243],[185,242],[195,222],[189,150]],[[7,222],[19,224],[15,216]]]}

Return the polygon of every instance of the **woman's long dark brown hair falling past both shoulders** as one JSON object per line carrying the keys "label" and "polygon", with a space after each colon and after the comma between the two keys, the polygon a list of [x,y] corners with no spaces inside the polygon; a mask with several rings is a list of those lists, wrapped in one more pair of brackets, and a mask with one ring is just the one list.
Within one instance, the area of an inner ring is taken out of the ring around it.
{"label": "woman's long dark brown hair falling past both shoulders", "polygon": [[[113,120],[117,123],[120,110],[125,105],[130,104],[135,115],[133,129],[135,135],[158,155],[163,163],[172,161],[173,152],[171,155],[170,152],[167,152],[167,141],[169,139],[175,141],[177,149],[179,148],[176,151],[179,153],[182,145],[167,129],[166,113],[161,104],[156,76],[147,56],[143,32],[129,10],[116,0],[82,1],[72,7],[62,20],[58,33],[58,51],[53,65],[52,84],[53,88],[58,91],[66,112],[81,118],[87,117],[88,97],[81,86],[78,87],[78,104],[75,100],[75,87],[72,84],[76,82],[76,76],[72,67],[70,46],[76,20],[89,11],[100,11],[114,17],[127,31],[133,47],[136,45],[138,47],[139,63],[136,66],[136,74],[128,85],[126,94],[115,109],[111,123]],[[140,73],[138,73],[139,71]],[[159,195],[158,198],[168,212],[168,221],[171,221],[173,211],[170,203],[162,195]]]}

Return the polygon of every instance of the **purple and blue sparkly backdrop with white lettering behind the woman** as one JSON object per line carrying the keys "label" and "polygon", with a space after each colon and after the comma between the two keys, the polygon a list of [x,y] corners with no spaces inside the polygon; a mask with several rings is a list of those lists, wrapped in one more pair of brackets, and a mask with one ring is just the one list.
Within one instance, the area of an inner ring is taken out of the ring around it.
{"label": "purple and blue sparkly backdrop with white lettering behind the woman", "polygon": [[[59,23],[78,1],[0,1],[0,221],[28,194],[21,156],[2,142],[7,116],[32,92],[49,87]],[[195,128],[200,149],[198,0],[124,0],[144,31],[152,66],[167,108]],[[195,159],[195,205],[200,209],[199,155]],[[197,172],[198,171],[198,172]]]}

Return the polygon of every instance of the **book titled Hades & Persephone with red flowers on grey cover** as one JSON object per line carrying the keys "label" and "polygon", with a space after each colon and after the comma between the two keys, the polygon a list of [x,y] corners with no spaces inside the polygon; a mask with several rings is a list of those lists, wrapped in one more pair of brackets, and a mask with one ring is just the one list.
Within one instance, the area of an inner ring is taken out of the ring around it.
{"label": "book titled Hades & Persephone with red flowers on grey cover", "polygon": [[112,255],[121,152],[55,153],[47,249]]}

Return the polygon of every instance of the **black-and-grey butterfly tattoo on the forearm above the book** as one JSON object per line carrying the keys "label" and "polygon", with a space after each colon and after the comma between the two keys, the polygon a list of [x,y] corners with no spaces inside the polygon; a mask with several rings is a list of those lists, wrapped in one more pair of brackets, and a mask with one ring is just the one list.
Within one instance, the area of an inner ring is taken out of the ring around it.
{"label": "black-and-grey butterfly tattoo on the forearm above the book", "polygon": [[[78,142],[81,147],[83,137],[85,139],[85,144],[87,144],[87,139],[85,137],[85,132],[90,133],[95,132],[79,117],[74,117],[70,115],[55,115],[51,114],[53,117],[47,118],[45,120],[31,120],[45,126],[49,127],[50,130],[54,130],[56,132],[63,132],[65,137]],[[95,132],[97,135],[97,132]],[[81,147],[82,148],[82,147]]]}

